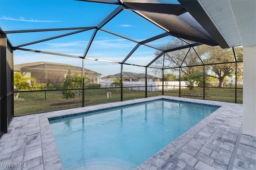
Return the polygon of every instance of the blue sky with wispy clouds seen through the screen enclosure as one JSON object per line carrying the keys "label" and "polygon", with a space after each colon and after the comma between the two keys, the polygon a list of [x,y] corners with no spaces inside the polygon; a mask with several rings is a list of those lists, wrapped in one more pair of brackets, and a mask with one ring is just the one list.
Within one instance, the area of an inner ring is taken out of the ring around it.
{"label": "blue sky with wispy clouds seen through the screen enclosure", "polygon": [[[0,0],[0,27],[3,31],[50,29],[65,27],[97,26],[118,5],[82,2],[76,0]],[[119,35],[142,41],[164,33],[156,25],[130,10],[123,10],[104,25],[103,29]],[[7,37],[13,46],[74,32],[45,31],[36,33],[13,33]],[[84,31],[58,39],[24,46],[54,53],[82,56],[94,30]],[[148,43],[154,47],[167,44],[170,37]],[[136,46],[136,43],[99,30],[86,55],[88,58],[122,62]],[[126,63],[147,65],[155,57],[156,49],[141,45]],[[46,61],[82,66],[82,59],[60,57],[26,51],[14,51],[14,64]],[[102,76],[120,72],[120,64],[85,60],[85,68],[99,72]],[[144,67],[124,65],[126,72],[145,72]]]}

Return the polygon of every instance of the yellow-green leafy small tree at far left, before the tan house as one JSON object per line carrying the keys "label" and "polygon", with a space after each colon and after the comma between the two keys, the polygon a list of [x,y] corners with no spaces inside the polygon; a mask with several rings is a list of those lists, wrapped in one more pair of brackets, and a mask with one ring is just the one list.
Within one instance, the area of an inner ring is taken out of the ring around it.
{"label": "yellow-green leafy small tree at far left, before the tan house", "polygon": [[[36,79],[33,77],[24,77],[20,72],[14,73],[14,86],[16,87],[16,90],[18,91],[25,91],[28,90],[28,88],[31,88],[30,84],[28,83],[28,80],[31,80],[32,82],[36,83]],[[16,96],[14,96],[14,99],[17,99],[19,96],[19,92]]]}

